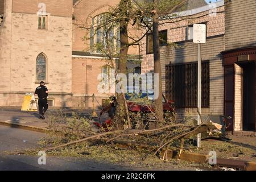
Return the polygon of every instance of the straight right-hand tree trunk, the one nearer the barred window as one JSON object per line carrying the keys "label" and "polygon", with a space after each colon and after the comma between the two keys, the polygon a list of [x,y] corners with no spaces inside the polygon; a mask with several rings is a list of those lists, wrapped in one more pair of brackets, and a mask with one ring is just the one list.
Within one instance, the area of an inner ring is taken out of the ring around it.
{"label": "straight right-hand tree trunk, the one nearer the barred window", "polygon": [[153,16],[153,47],[154,47],[154,73],[159,75],[158,88],[159,97],[155,100],[155,113],[159,121],[163,121],[163,102],[162,102],[162,73],[160,63],[160,44],[159,44],[159,0],[154,0],[154,16]]}

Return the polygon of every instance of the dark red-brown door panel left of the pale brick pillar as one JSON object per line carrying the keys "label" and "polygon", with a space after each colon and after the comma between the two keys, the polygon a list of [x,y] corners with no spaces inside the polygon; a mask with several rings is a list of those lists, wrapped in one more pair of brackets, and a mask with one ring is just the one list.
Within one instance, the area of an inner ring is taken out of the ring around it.
{"label": "dark red-brown door panel left of the pale brick pillar", "polygon": [[226,131],[233,131],[234,121],[234,67],[225,67],[225,109],[224,115],[231,117],[226,120]]}

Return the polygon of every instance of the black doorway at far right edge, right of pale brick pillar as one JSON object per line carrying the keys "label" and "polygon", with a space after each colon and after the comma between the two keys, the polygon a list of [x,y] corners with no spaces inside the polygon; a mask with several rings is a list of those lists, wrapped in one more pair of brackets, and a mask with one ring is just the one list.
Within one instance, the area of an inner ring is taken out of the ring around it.
{"label": "black doorway at far right edge, right of pale brick pillar", "polygon": [[243,130],[255,131],[255,63],[243,68]]}

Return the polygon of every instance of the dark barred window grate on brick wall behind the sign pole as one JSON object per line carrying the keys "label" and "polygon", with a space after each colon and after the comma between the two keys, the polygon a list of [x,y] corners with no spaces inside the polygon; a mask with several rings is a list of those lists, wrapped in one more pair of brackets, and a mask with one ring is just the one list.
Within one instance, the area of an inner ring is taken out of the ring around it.
{"label": "dark barred window grate on brick wall behind the sign pole", "polygon": [[[201,105],[209,107],[209,61],[202,63]],[[197,63],[166,66],[166,96],[176,107],[197,107]]]}

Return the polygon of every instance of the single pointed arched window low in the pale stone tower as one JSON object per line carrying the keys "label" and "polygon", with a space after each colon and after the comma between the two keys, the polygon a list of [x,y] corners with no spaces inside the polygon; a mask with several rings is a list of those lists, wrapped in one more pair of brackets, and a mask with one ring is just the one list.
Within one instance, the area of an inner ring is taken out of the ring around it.
{"label": "single pointed arched window low in the pale stone tower", "polygon": [[36,80],[46,81],[46,56],[43,53],[36,57]]}

